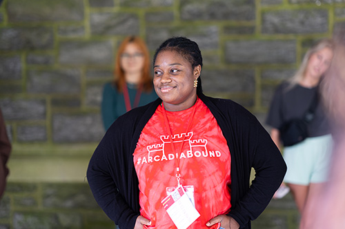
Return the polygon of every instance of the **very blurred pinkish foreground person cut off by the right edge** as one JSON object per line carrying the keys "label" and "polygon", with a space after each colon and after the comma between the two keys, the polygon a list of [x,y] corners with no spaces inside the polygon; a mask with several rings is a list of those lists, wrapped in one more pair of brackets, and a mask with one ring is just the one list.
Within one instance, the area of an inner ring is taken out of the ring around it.
{"label": "very blurred pinkish foreground person cut off by the right edge", "polygon": [[306,206],[301,227],[345,228],[345,46],[337,43],[331,69],[321,83],[335,140],[328,182]]}

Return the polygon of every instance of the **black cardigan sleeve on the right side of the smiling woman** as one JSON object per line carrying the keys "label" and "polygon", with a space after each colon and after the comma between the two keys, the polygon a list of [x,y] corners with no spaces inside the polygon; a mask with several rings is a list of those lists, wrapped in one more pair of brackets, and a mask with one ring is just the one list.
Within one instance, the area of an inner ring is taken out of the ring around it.
{"label": "black cardigan sleeve on the right side of the smiling woman", "polygon": [[[269,204],[275,191],[282,184],[286,164],[270,135],[255,116],[243,110],[241,116],[237,113],[237,117],[239,120],[235,125],[237,136],[234,143],[237,147],[233,147],[233,151],[236,151],[234,152],[236,179],[240,179],[239,175],[243,173],[243,170],[250,173],[251,168],[255,169],[255,179],[250,188],[242,190],[235,207],[229,214],[244,227],[248,221],[259,217]],[[237,180],[237,182],[243,183],[249,180]],[[244,185],[246,184],[237,184],[239,187]]]}

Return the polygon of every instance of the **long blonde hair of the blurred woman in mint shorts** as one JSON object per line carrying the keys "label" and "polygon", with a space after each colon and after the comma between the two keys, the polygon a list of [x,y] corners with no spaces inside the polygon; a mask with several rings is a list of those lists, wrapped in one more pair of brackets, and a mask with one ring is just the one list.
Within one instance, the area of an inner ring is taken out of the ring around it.
{"label": "long blonde hair of the blurred woman in mint shorts", "polygon": [[308,66],[309,58],[311,58],[311,55],[315,54],[315,52],[319,52],[319,50],[324,49],[325,47],[328,47],[331,50],[334,50],[334,43],[332,39],[322,39],[315,43],[312,47],[308,49],[306,54],[304,54],[304,58],[302,60],[301,65],[299,65],[299,69],[295,73],[293,77],[288,79],[288,83],[290,83],[289,89],[297,85],[302,78],[304,78],[304,74],[306,73],[306,67]]}

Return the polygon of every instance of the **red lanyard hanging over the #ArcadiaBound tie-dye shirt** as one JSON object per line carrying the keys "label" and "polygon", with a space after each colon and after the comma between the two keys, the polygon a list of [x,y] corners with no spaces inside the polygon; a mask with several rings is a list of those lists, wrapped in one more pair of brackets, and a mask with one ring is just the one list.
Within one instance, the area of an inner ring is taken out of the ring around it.
{"label": "red lanyard hanging over the #ArcadiaBound tie-dye shirt", "polygon": [[[197,98],[197,100],[198,100],[198,98]],[[190,125],[192,124],[192,121],[193,121],[193,118],[194,118],[194,114],[195,114],[195,109],[197,107],[196,103],[197,102],[195,102],[195,105],[193,106],[192,115],[190,116],[190,119],[188,121],[188,125],[187,125],[187,129],[186,129],[186,132],[185,132],[186,134],[184,135],[184,139],[186,138],[186,135],[188,133],[188,129],[190,129]],[[170,130],[168,116],[166,115],[166,109],[164,108],[164,103],[163,102],[162,102],[162,107],[163,107],[163,113],[164,113],[164,122],[166,124],[166,129],[168,129],[170,143],[171,143],[171,146],[172,146],[173,153],[175,153],[175,154],[176,153],[181,153],[182,146],[184,146],[184,139],[182,140],[182,142],[181,142],[181,144],[179,146],[179,151],[176,151],[174,141],[172,140],[172,134],[171,134],[171,130]],[[176,179],[177,179],[177,183],[179,184],[179,179],[181,178],[181,171],[180,171],[180,168],[179,168],[179,156],[176,156],[175,165],[176,165]]]}

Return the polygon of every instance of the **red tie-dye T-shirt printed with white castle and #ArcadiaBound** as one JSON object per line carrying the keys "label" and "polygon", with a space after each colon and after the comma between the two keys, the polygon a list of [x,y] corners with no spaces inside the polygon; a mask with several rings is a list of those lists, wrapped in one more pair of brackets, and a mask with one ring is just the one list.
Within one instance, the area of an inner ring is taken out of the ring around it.
{"label": "red tie-dye T-shirt printed with white castle and #ArcadiaBound", "polygon": [[180,158],[181,185],[194,186],[195,208],[201,215],[189,228],[208,228],[206,223],[210,219],[230,210],[231,158],[226,139],[204,102],[197,100],[195,106],[187,133],[193,107],[166,111],[175,149],[183,143],[181,153],[172,152],[161,106],[141,132],[133,156],[139,178],[141,215],[152,221],[148,228],[176,228],[161,205],[166,188],[177,186],[176,157]]}

